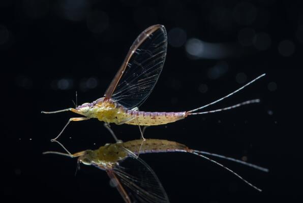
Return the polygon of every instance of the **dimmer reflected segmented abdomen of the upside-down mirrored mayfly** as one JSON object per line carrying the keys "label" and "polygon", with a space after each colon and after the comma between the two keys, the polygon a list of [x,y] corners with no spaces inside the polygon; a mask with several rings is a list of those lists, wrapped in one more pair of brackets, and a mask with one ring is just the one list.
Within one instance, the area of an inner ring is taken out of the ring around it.
{"label": "dimmer reflected segmented abdomen of the upside-down mirrored mayfly", "polygon": [[144,153],[160,153],[160,152],[186,152],[188,147],[167,140],[157,140],[157,139],[146,139],[145,142],[143,140],[133,140],[129,142],[122,143],[123,146],[134,154],[138,154],[138,151],[141,147],[140,154]]}

